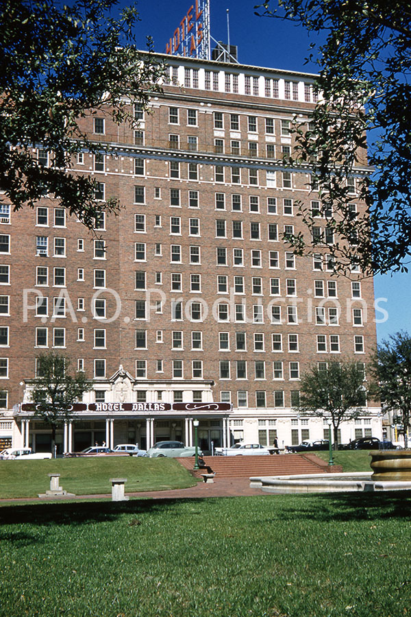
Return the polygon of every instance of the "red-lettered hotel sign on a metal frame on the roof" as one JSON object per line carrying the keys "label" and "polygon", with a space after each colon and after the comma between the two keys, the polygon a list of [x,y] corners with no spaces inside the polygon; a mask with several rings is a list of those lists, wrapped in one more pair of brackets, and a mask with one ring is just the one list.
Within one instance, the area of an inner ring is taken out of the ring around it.
{"label": "red-lettered hotel sign on a metal frame on the roof", "polygon": [[173,36],[166,53],[210,60],[210,0],[195,0]]}

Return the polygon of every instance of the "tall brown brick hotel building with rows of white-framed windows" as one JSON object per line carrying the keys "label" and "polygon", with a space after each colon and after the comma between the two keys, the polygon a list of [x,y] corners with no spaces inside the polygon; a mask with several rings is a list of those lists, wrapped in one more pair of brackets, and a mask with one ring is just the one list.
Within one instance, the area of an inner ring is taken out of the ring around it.
{"label": "tall brown brick hotel building with rows of white-framed windows", "polygon": [[[25,405],[45,350],[94,380],[59,451],[191,444],[193,418],[208,450],[323,438],[321,418],[292,409],[301,374],[336,358],[365,367],[375,347],[373,281],[334,274],[325,219],[314,256],[282,241],[303,230],[296,200],[319,204],[309,166],[282,162],[292,119],[307,124],[316,103],[314,75],[158,57],[169,78],[149,112],[135,107],[138,130],[82,119],[110,154],[79,154],[75,169],[97,180],[97,199],[119,198],[119,215],[90,234],[51,198],[20,213],[0,206],[3,446],[50,447]],[[369,171],[358,163],[358,176]],[[382,437],[377,407],[341,429],[342,441],[371,434]]]}

